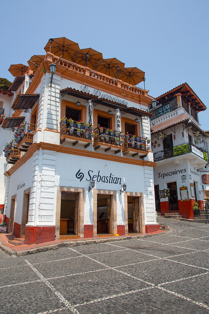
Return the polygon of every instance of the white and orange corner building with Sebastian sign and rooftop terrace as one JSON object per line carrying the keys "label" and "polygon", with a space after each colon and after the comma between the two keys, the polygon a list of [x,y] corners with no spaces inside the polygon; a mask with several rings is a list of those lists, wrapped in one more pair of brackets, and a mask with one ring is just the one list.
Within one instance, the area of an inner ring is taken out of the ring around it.
{"label": "white and orange corner building with Sebastian sign and rooftop terrace", "polygon": [[95,71],[93,61],[89,68],[51,52],[34,76],[30,68],[26,72],[14,114],[2,124],[24,123],[23,134],[13,133],[17,148],[7,157],[9,232],[32,244],[158,230],[147,110],[152,98],[125,79],[126,68],[107,75],[102,67]]}

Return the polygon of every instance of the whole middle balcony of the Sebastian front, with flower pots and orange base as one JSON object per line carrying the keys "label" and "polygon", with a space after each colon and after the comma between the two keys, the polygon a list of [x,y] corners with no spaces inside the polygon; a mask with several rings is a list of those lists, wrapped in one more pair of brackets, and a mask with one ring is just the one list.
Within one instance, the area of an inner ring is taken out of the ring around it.
{"label": "whole middle balcony of the Sebastian front, with flower pots and orange base", "polygon": [[94,129],[94,150],[101,148],[107,152],[111,149],[117,154],[121,152],[123,142],[122,132],[99,126]]}

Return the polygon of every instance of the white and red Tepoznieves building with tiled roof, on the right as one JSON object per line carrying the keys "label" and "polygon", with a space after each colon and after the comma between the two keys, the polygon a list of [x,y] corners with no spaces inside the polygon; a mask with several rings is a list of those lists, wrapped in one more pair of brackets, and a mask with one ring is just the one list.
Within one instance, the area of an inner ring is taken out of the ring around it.
{"label": "white and red Tepoznieves building with tiled roof, on the right", "polygon": [[[187,83],[156,98],[150,126],[154,162],[156,210],[175,212],[193,219],[195,201],[203,205],[204,190],[200,169],[207,164],[206,140],[198,113],[206,110]],[[169,197],[164,195],[169,189]]]}

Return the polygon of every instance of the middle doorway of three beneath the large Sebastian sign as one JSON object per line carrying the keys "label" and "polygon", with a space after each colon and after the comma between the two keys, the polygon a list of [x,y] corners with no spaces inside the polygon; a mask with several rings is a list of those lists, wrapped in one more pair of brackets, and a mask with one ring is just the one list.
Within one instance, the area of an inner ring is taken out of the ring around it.
{"label": "middle doorway of three beneath the large Sebastian sign", "polygon": [[111,195],[97,194],[97,234],[111,234]]}

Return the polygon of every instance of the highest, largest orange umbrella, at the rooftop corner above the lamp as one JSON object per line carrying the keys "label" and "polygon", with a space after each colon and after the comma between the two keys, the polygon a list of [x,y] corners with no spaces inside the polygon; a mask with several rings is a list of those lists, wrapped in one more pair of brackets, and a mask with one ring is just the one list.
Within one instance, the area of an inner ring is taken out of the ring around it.
{"label": "highest, largest orange umbrella, at the rooftop corner above the lamp", "polygon": [[50,38],[44,47],[46,52],[51,52],[58,57],[75,62],[73,55],[76,50],[79,50],[79,45],[67,39],[66,37]]}

